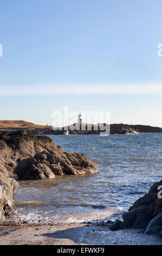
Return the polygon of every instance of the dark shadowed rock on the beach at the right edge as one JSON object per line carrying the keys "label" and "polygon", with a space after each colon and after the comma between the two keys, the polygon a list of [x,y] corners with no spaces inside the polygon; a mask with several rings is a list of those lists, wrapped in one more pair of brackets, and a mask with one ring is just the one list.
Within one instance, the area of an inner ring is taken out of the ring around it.
{"label": "dark shadowed rock on the beach at the right edge", "polygon": [[162,180],[156,182],[144,197],[139,198],[128,212],[122,215],[124,222],[116,221],[111,230],[126,228],[145,229],[146,234],[162,234]]}

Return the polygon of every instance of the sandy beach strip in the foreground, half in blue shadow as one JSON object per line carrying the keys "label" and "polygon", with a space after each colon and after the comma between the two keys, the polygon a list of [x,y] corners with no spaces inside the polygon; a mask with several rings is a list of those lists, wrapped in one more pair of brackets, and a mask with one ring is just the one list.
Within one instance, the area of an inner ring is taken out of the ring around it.
{"label": "sandy beach strip in the foreground, half in blue shadow", "polygon": [[162,245],[162,240],[143,230],[111,231],[103,225],[3,223],[0,245]]}

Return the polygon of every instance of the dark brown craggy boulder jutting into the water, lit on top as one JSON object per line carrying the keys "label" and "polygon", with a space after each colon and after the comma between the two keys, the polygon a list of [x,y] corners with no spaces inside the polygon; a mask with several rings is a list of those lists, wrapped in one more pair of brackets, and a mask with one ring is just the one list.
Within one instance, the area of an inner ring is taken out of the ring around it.
{"label": "dark brown craggy boulder jutting into the water, lit on top", "polygon": [[54,178],[55,175],[97,173],[98,165],[85,154],[44,150],[18,162],[15,173],[21,180]]}

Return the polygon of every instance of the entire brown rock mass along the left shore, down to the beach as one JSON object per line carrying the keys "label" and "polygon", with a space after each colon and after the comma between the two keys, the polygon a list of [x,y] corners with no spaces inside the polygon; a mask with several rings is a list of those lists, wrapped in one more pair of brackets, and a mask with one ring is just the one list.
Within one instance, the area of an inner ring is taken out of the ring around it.
{"label": "entire brown rock mass along the left shore, down to the beach", "polygon": [[97,173],[98,165],[85,154],[66,153],[47,136],[25,131],[0,135],[0,221],[10,216],[19,179],[54,178],[55,175]]}

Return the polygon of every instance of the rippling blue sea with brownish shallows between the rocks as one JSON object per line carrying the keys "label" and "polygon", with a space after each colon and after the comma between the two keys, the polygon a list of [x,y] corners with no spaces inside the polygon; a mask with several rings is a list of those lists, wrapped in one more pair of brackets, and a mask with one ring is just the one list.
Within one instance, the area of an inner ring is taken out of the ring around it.
{"label": "rippling blue sea with brownish shallows between the rocks", "polygon": [[[162,174],[162,133],[49,135],[65,151],[85,153],[99,173],[18,181],[12,221],[107,222],[144,196]],[[17,177],[14,177],[17,179]]]}

